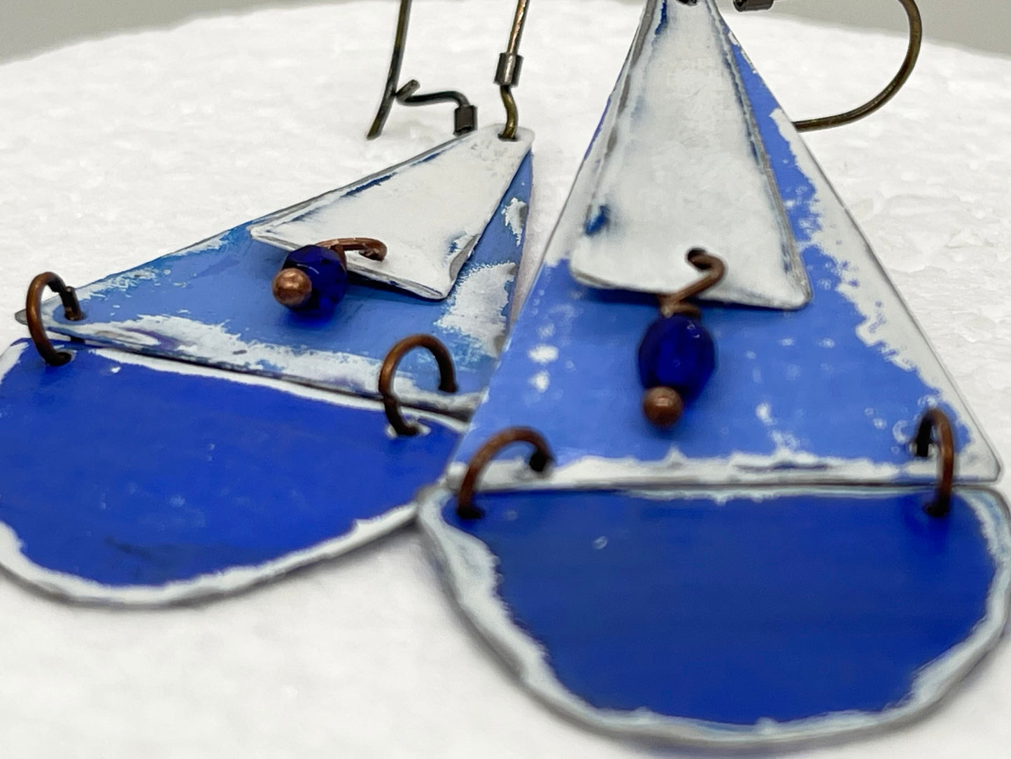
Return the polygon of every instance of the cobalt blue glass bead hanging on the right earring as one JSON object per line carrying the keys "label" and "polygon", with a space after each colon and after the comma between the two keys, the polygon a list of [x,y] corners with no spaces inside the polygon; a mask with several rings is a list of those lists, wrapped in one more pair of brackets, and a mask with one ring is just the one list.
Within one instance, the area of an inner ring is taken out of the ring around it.
{"label": "cobalt blue glass bead hanging on the right earring", "polygon": [[644,388],[673,388],[685,400],[702,392],[716,368],[716,346],[697,319],[682,314],[649,325],[639,344]]}

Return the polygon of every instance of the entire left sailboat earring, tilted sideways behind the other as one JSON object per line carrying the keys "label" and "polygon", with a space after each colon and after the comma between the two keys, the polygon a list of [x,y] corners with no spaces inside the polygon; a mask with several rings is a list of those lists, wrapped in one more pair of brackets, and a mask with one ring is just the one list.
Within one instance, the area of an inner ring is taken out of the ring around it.
{"label": "entire left sailboat earring, tilted sideways behind the other", "polygon": [[159,605],[410,521],[504,341],[533,139],[511,121],[76,291],[36,277],[0,358],[0,564]]}

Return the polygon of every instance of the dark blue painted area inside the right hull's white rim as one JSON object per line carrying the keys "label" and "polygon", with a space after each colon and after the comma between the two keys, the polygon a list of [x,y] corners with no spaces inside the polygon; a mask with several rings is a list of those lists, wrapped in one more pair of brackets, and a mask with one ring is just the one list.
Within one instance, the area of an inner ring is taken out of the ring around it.
{"label": "dark blue painted area inside the right hull's white rim", "polygon": [[[929,491],[656,500],[481,494],[447,523],[494,556],[497,594],[592,706],[750,726],[880,712],[985,615],[996,563]],[[977,496],[979,497],[979,496]]]}

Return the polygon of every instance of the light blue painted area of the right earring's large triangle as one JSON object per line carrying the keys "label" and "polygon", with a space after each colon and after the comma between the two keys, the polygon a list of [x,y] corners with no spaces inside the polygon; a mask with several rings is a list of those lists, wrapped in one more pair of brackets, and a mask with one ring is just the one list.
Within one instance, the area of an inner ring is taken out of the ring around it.
{"label": "light blue painted area of the right earring's large triangle", "polygon": [[[910,460],[906,442],[915,420],[932,406],[951,418],[957,448],[973,439],[967,420],[918,367],[900,365],[892,348],[858,335],[866,319],[840,288],[874,285],[893,313],[905,307],[880,267],[864,267],[855,282],[847,264],[813,240],[821,226],[818,204],[839,201],[831,193],[816,198],[773,118],[774,98],[734,50],[812,283],[811,303],[793,312],[704,305],[718,368],[677,425],[661,430],[641,411],[635,353],[656,319],[655,299],[579,284],[564,259],[546,265],[456,460],[469,460],[499,429],[526,425],[544,434],[562,466],[586,455],[659,461],[672,448],[688,458],[787,449],[821,460],[902,466]],[[568,216],[575,224],[577,215]],[[566,238],[561,231],[555,236]],[[876,327],[867,330],[871,336]],[[922,346],[918,355],[931,356],[913,330],[907,342]],[[549,352],[556,357],[546,361]],[[959,477],[992,478],[996,467],[990,459],[973,471],[962,468]]]}

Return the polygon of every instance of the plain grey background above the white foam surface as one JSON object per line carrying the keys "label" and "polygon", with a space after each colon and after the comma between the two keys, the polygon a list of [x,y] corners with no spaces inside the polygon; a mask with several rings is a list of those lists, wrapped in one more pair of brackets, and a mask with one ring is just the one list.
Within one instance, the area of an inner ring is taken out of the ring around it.
{"label": "plain grey background above the white foam surface", "polygon": [[[199,15],[308,4],[306,0],[0,0],[0,61],[123,29],[171,26]],[[919,5],[927,36],[1011,56],[1008,0],[919,0]],[[870,28],[906,25],[905,13],[895,0],[778,0],[774,12]]]}

